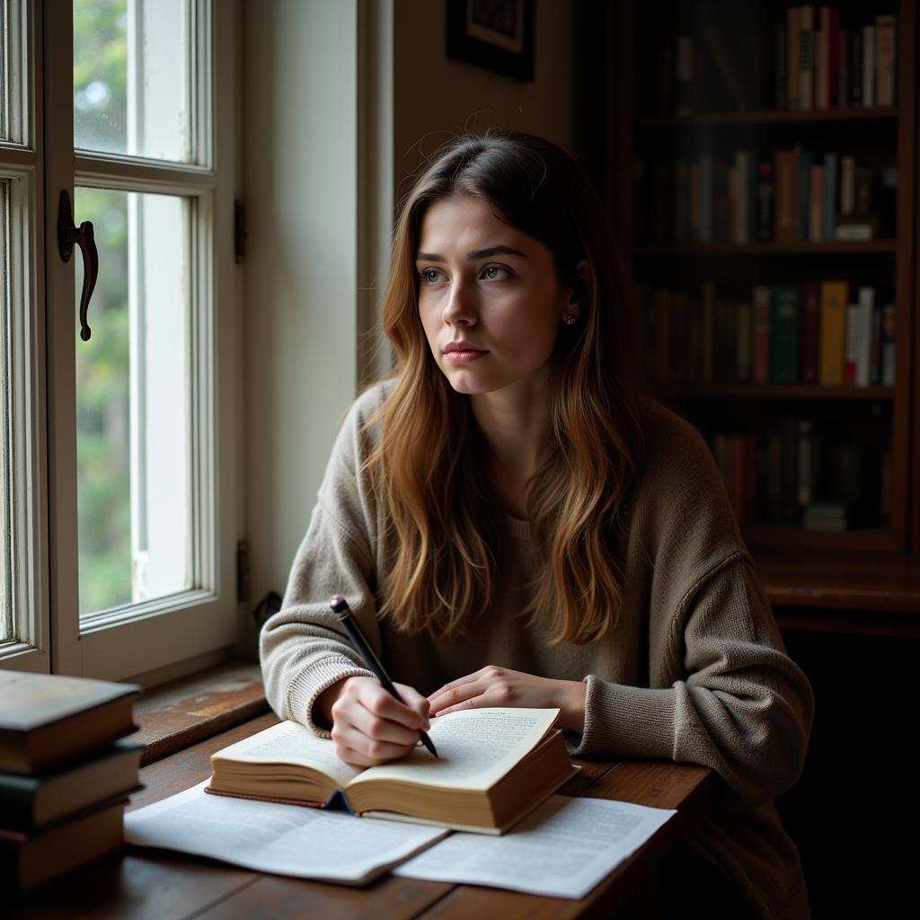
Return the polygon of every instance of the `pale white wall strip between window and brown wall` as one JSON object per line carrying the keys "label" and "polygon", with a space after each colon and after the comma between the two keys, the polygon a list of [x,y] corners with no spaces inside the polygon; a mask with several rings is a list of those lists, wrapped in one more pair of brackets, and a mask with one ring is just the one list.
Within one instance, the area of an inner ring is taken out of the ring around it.
{"label": "pale white wall strip between window and brown wall", "polygon": [[356,0],[244,7],[251,609],[283,591],[356,380]]}

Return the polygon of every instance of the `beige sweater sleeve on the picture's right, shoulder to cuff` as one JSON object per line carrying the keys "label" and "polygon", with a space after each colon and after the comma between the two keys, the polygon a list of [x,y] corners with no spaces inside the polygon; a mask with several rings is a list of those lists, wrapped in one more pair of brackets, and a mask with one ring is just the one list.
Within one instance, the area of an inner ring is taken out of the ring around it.
{"label": "beige sweater sleeve on the picture's right, shoulder to cuff", "polygon": [[648,525],[649,683],[589,674],[573,753],[709,766],[724,780],[723,804],[744,810],[798,779],[814,702],[705,444],[695,432],[678,436],[680,449],[667,452],[639,512]]}

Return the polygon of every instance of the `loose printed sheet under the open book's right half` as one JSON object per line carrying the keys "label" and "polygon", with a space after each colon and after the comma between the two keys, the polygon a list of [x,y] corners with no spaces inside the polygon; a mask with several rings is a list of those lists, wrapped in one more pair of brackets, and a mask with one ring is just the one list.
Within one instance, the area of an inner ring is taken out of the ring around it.
{"label": "loose printed sheet under the open book's right half", "polygon": [[552,796],[504,836],[452,834],[394,874],[582,898],[676,813]]}

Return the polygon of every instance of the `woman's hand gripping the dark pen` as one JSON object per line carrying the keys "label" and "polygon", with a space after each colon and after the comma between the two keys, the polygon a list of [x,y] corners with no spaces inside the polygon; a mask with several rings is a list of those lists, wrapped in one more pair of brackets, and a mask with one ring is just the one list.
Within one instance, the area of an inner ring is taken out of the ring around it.
{"label": "woman's hand gripping the dark pen", "polygon": [[348,677],[316,699],[316,714],[332,724],[339,760],[376,766],[406,757],[428,730],[428,700],[406,684],[396,684],[401,703],[375,677]]}

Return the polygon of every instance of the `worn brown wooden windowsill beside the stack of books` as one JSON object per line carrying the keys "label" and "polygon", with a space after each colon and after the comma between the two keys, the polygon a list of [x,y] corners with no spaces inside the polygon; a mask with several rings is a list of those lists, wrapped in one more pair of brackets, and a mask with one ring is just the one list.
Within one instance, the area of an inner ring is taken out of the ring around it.
{"label": "worn brown wooden windowsill beside the stack of books", "polygon": [[145,691],[131,740],[146,745],[141,763],[151,764],[268,710],[259,665],[229,661]]}

